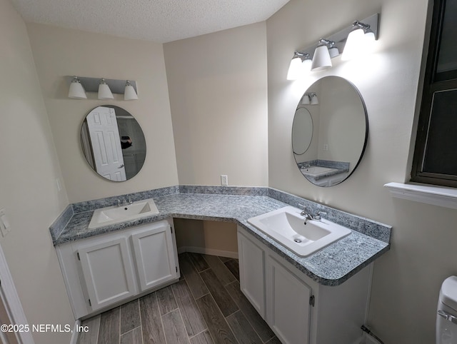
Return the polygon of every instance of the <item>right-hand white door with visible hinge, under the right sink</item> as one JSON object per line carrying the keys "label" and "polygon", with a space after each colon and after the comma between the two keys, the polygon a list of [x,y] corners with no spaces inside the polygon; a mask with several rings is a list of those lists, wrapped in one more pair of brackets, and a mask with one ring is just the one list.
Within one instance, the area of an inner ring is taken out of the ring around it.
{"label": "right-hand white door with visible hinge, under the right sink", "polygon": [[285,344],[309,343],[311,288],[277,260],[266,260],[266,322]]}

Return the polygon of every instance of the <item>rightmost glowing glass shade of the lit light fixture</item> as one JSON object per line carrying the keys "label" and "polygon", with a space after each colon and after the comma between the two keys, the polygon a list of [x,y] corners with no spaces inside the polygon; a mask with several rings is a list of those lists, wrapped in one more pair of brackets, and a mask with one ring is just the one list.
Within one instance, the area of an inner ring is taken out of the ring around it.
{"label": "rightmost glowing glass shade of the lit light fixture", "polygon": [[363,55],[363,51],[366,51],[375,40],[375,35],[371,31],[369,24],[354,21],[352,26],[353,30],[348,34],[346,46],[344,46],[343,55],[341,56],[343,61]]}

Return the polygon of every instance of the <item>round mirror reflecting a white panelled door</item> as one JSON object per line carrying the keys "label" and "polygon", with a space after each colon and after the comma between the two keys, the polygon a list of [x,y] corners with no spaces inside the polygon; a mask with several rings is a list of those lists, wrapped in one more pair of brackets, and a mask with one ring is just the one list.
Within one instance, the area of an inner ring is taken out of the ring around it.
{"label": "round mirror reflecting a white panelled door", "polygon": [[89,165],[110,181],[126,181],[146,159],[146,140],[134,116],[114,105],[97,106],[81,126],[81,147]]}

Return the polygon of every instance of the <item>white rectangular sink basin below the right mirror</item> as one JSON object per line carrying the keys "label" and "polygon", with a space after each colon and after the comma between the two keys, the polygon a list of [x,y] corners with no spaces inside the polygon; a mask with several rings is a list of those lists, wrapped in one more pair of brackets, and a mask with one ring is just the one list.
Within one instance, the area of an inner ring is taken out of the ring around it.
{"label": "white rectangular sink basin below the right mirror", "polygon": [[309,256],[351,233],[349,228],[324,218],[321,221],[307,220],[305,225],[300,213],[300,209],[288,206],[249,218],[248,223],[301,257]]}

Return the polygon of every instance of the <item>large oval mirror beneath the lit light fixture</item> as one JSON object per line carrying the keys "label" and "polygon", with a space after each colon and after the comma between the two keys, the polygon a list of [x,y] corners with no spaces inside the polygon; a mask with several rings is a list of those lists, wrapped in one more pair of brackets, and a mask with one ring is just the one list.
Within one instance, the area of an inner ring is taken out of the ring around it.
{"label": "large oval mirror beneath the lit light fixture", "polygon": [[292,149],[308,181],[317,186],[345,181],[361,161],[367,138],[365,103],[349,81],[325,76],[303,94],[293,118]]}

